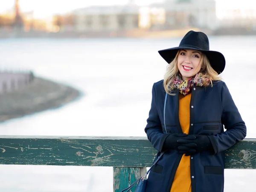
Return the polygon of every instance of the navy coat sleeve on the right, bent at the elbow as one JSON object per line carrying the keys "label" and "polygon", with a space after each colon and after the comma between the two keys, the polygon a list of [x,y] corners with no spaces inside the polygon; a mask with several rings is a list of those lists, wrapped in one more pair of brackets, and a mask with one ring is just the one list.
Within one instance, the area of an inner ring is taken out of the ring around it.
{"label": "navy coat sleeve on the right, bent at the elbow", "polygon": [[221,134],[209,136],[215,154],[227,150],[246,136],[246,126],[225,83],[221,90],[221,102],[221,122],[227,130]]}

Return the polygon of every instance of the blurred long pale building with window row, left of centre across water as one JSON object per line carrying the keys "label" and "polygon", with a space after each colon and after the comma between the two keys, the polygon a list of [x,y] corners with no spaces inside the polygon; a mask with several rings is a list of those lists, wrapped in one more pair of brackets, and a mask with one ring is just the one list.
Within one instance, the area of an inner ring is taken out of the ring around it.
{"label": "blurred long pale building with window row, left of centre across water", "polygon": [[139,26],[139,7],[91,6],[73,12],[76,32],[99,32],[137,29]]}

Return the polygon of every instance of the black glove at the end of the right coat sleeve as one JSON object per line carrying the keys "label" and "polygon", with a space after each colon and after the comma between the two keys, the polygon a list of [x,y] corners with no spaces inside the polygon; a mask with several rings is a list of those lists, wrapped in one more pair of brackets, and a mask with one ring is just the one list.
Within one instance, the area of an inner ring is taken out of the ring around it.
{"label": "black glove at the end of the right coat sleeve", "polygon": [[212,143],[207,135],[191,135],[195,136],[194,140],[187,140],[186,137],[178,140],[180,145],[177,147],[179,153],[185,156],[193,155],[203,151],[212,151]]}

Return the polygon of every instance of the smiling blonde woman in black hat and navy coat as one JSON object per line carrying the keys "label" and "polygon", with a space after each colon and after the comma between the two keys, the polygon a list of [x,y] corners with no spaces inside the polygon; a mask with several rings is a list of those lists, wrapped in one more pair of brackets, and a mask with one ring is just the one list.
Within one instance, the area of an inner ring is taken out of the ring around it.
{"label": "smiling blonde woman in black hat and navy coat", "polygon": [[209,50],[207,35],[194,31],[179,47],[159,53],[169,66],[164,79],[153,85],[145,132],[157,156],[165,153],[151,169],[145,191],[223,192],[225,150],[246,136],[244,121],[218,76],[225,58]]}

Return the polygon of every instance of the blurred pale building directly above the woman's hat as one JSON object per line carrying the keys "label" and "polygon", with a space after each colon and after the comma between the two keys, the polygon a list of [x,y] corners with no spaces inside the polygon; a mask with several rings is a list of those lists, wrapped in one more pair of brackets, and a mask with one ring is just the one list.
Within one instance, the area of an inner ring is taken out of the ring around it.
{"label": "blurred pale building directly above the woman's hat", "polygon": [[[163,9],[164,19],[162,18],[163,11],[161,11]],[[150,10],[151,18],[161,18],[158,23],[151,23],[151,28],[197,27],[212,30],[218,28],[215,0],[165,0],[164,3],[152,4]],[[152,10],[158,10],[158,16]]]}

